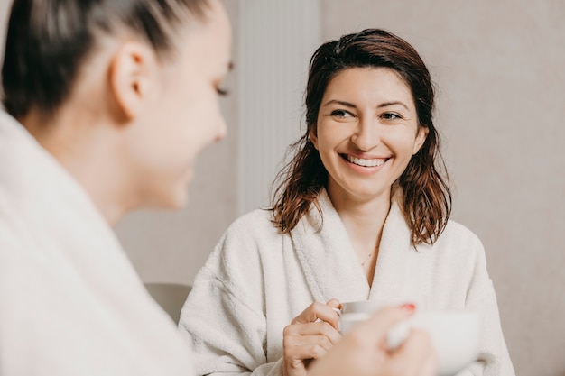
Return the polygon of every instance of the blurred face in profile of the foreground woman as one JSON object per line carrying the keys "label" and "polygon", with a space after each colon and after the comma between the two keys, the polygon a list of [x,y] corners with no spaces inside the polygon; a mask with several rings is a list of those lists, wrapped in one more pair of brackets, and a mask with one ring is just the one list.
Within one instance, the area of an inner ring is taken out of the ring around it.
{"label": "blurred face in profile of the foreground woman", "polygon": [[223,5],[210,4],[205,21],[173,39],[128,141],[142,206],[183,206],[196,157],[226,134],[218,90],[231,65],[231,30]]}

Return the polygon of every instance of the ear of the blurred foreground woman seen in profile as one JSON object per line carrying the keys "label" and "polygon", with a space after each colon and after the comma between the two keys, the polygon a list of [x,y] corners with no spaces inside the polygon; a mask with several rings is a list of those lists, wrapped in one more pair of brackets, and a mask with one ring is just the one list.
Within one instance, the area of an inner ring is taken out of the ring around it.
{"label": "ear of the blurred foreground woman seen in profile", "polygon": [[109,71],[110,90],[116,107],[127,120],[134,119],[152,89],[156,57],[151,48],[127,41],[116,51]]}

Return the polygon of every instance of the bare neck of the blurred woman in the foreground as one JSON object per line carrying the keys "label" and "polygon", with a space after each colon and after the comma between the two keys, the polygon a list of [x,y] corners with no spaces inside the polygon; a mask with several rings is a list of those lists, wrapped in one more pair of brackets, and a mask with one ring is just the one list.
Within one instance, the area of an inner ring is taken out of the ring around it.
{"label": "bare neck of the blurred woman in the foreground", "polygon": [[19,120],[85,189],[107,223],[115,225],[135,206],[127,194],[125,169],[116,158],[116,137],[112,126],[80,117],[58,114],[45,121],[32,111]]}

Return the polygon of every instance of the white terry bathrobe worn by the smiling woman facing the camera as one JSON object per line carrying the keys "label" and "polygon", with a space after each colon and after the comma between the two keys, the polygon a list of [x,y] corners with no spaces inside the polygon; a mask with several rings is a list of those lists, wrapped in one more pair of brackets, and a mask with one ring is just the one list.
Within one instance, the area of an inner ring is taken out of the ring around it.
{"label": "white terry bathrobe worn by the smiling woman facing the camera", "polygon": [[397,205],[384,225],[369,288],[346,229],[325,191],[323,226],[313,209],[292,236],[277,232],[271,212],[242,216],[199,271],[179,330],[199,375],[282,374],[282,330],[312,302],[416,298],[434,310],[468,309],[482,316],[480,362],[460,375],[514,376],[482,244],[449,221],[433,245],[416,252]]}

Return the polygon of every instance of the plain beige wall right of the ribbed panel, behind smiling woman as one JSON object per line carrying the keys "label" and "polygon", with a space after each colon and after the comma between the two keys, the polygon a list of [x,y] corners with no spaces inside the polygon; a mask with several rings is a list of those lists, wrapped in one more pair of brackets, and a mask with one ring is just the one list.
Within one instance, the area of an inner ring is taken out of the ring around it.
{"label": "plain beige wall right of the ribbed panel, behind smiling woman", "polygon": [[322,0],[321,19],[324,39],[380,27],[421,52],[516,372],[565,375],[565,2]]}

